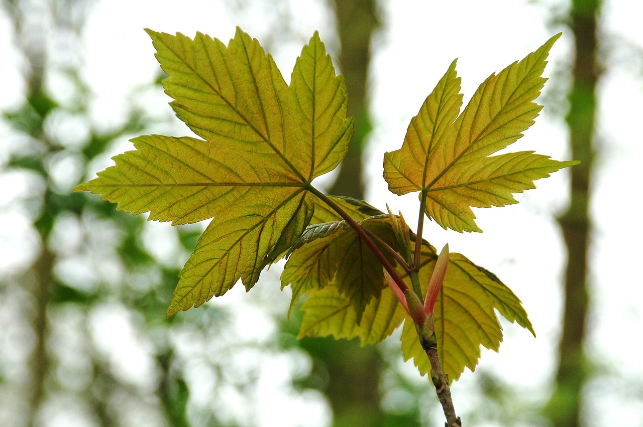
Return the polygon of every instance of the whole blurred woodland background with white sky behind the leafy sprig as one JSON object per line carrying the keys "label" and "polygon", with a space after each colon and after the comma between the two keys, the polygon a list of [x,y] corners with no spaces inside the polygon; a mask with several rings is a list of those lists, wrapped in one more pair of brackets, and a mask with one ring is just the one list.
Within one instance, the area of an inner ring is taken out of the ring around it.
{"label": "whole blurred woodland background with white sky behind the leafy sprig", "polygon": [[[0,426],[436,426],[439,403],[399,351],[294,337],[280,265],[165,319],[204,225],[171,227],[71,193],[131,137],[187,135],[143,28],[226,42],[239,25],[286,80],[314,30],[346,77],[356,135],[332,194],[414,218],[382,155],[459,57],[465,101],[563,31],[536,125],[512,150],[572,170],[482,234],[426,225],[523,300],[538,338],[503,322],[453,385],[467,426],[643,426],[639,193],[643,6],[629,0],[1,0]],[[637,338],[638,337],[638,338]]]}

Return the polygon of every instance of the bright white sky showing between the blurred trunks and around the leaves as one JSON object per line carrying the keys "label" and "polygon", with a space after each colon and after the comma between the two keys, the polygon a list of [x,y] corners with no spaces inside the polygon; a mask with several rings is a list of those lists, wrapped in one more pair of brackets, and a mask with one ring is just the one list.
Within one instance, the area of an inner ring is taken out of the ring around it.
{"label": "bright white sky showing between the blurred trunks and around the leaves", "polygon": [[[211,1],[185,1],[180,7],[174,1],[99,1],[86,27],[86,46],[79,53],[86,65],[83,77],[96,95],[93,110],[96,122],[100,120],[104,126],[109,126],[122,121],[124,117],[120,112],[128,102],[127,94],[132,88],[149,82],[158,72],[154,49],[143,28],[171,33],[180,31],[189,36],[202,31],[227,42],[233,36],[235,26],[239,25],[263,43],[271,32],[271,21],[265,19],[269,6],[265,3],[255,2],[238,13]],[[554,0],[543,3],[552,8],[565,4]],[[325,2],[302,0],[289,4],[292,26],[305,37],[290,40],[280,47],[275,43],[269,47],[286,80],[289,80],[301,46],[314,30],[320,30],[321,39],[327,42],[331,53],[335,53],[338,46],[334,21],[324,8]],[[628,40],[639,49],[643,48],[642,3],[612,0],[606,3],[604,10],[606,37]],[[385,151],[399,148],[408,122],[417,114],[422,101],[453,58],[460,58],[458,74],[462,77],[466,102],[489,74],[525,57],[554,33],[563,31],[545,71],[552,76],[554,70],[563,69],[571,61],[572,35],[564,27],[548,26],[547,8],[528,1],[383,1],[382,12],[383,27],[374,39],[370,82],[375,127],[370,152],[365,159],[370,183],[367,198],[381,209],[388,203],[392,210],[403,211],[408,222],[413,223],[417,218],[417,199],[415,195],[399,197],[388,193],[381,177],[382,156]],[[7,31],[6,25],[0,21],[2,34]],[[0,40],[1,57],[12,55],[8,38]],[[614,47],[614,51],[618,51],[622,43],[616,42]],[[638,379],[640,384],[643,368],[631,343],[637,342],[633,335],[640,335],[643,330],[640,304],[643,283],[635,270],[643,233],[634,222],[640,207],[635,196],[639,190],[634,185],[637,182],[635,173],[640,168],[639,159],[643,158],[638,132],[643,78],[640,69],[628,68],[626,64],[616,67],[604,75],[599,87],[599,140],[596,141],[599,152],[592,183],[595,233],[590,286],[593,315],[588,350],[610,369],[626,378]],[[1,73],[4,82],[15,82],[6,84],[3,89],[0,109],[4,109],[19,103],[22,88],[17,69],[3,67]],[[52,84],[55,86],[55,80]],[[561,78],[550,81],[545,85],[545,94],[548,88],[561,89],[565,84]],[[60,96],[64,97],[64,93]],[[154,100],[155,104],[150,103],[149,109],[169,111],[168,100],[160,101]],[[536,150],[554,159],[568,159],[564,123],[553,110],[546,104],[536,125],[510,148]],[[176,129],[180,134],[181,127]],[[188,134],[186,127],[183,130]],[[105,162],[122,148],[127,146],[114,147],[116,151],[105,156]],[[108,165],[109,162],[102,166]],[[428,223],[426,227],[425,237],[433,245],[442,247],[449,243],[452,252],[462,252],[496,273],[523,301],[538,338],[532,338],[518,326],[505,327],[500,353],[485,351],[480,364],[497,370],[507,382],[525,390],[546,385],[555,365],[565,252],[553,215],[565,209],[567,178],[566,172],[558,172],[536,182],[538,189],[518,195],[521,202],[518,205],[477,210],[478,225],[484,230],[482,234],[443,231],[435,223]],[[8,187],[0,191],[6,196]],[[12,215],[13,223],[17,225],[0,229],[0,236],[5,240],[0,243],[0,256],[3,257],[15,254],[12,249],[15,245],[24,246],[19,240],[24,239],[22,233],[28,229],[24,220],[15,213]],[[6,219],[6,214],[3,216]],[[21,232],[21,238],[16,237],[18,232]],[[286,311],[287,301],[284,300],[284,316]],[[278,365],[275,369],[279,369]],[[466,383],[467,372],[454,387],[456,399],[458,393],[465,393],[460,390]],[[620,397],[597,399],[593,407],[608,408],[619,402]],[[637,412],[640,402],[620,402],[619,405],[626,405],[620,412],[588,409],[588,415],[593,417],[588,425],[625,424],[625,418],[618,418],[620,415],[630,417],[628,425],[643,425],[643,410]],[[287,404],[285,399],[283,405]],[[467,403],[463,401],[460,405]],[[278,403],[262,406],[264,425],[278,419],[275,411],[279,412],[283,407]],[[297,420],[282,419],[280,423],[295,425]]]}

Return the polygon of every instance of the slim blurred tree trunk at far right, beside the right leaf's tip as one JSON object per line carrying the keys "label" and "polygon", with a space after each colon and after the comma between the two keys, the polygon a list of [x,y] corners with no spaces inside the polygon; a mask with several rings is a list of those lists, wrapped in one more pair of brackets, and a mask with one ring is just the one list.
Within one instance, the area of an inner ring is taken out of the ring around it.
{"label": "slim blurred tree trunk at far right, beside the right leaf's tip", "polygon": [[568,211],[558,221],[563,229],[568,261],[565,274],[565,313],[559,344],[556,392],[549,404],[555,426],[579,426],[583,383],[586,379],[583,343],[586,335],[588,290],[587,250],[591,231],[588,205],[596,114],[597,23],[600,0],[572,0],[570,27],[575,37],[575,62],[566,116],[570,130],[572,193]]}

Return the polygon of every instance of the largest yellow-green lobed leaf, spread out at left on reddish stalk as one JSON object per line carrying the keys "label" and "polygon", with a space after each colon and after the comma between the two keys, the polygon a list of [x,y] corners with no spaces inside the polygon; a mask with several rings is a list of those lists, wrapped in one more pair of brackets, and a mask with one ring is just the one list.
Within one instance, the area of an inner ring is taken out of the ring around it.
{"label": "largest yellow-green lobed leaf, spread out at left on reddish stalk", "polygon": [[314,177],[335,168],[352,121],[346,89],[317,33],[291,84],[260,44],[237,29],[228,46],[197,33],[147,30],[169,78],[176,115],[202,139],[142,136],[136,151],[75,191],[91,191],[150,220],[213,218],[181,271],[167,315],[199,306],[241,279],[249,290],[311,221]]}

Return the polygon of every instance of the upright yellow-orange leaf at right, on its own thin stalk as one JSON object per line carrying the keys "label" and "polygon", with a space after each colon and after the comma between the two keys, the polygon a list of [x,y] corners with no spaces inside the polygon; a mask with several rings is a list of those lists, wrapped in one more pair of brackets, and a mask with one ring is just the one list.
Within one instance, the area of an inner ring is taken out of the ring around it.
{"label": "upright yellow-orange leaf at right, on its own thin stalk", "polygon": [[517,203],[513,193],[534,188],[534,180],[576,164],[533,152],[489,155],[522,137],[542,108],[541,77],[555,35],[541,48],[491,74],[462,114],[456,61],[408,127],[402,148],[385,154],[384,177],[398,195],[420,191],[426,214],[444,229],[482,231],[471,207]]}

